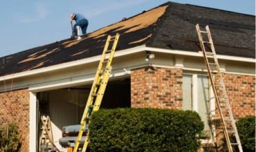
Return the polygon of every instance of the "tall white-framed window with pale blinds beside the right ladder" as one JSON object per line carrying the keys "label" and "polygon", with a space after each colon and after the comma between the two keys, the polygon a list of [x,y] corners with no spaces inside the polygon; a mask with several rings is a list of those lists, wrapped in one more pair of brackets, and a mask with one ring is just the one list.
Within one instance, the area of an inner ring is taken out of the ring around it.
{"label": "tall white-framed window with pale blinds beside the right ladder", "polygon": [[207,75],[183,74],[183,110],[199,113],[205,124],[205,135],[210,135],[208,115],[214,109]]}

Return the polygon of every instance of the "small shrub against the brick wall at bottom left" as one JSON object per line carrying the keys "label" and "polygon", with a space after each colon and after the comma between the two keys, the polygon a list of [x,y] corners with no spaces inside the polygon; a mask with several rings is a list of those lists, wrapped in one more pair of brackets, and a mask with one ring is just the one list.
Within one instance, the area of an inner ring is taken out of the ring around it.
{"label": "small shrub against the brick wall at bottom left", "polygon": [[17,124],[10,123],[0,127],[0,151],[19,151],[19,144]]}

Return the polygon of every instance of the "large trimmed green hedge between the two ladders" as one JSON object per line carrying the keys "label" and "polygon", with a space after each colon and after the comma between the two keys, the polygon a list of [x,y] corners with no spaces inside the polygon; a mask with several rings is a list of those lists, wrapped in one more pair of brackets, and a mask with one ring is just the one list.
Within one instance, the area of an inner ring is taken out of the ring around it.
{"label": "large trimmed green hedge between the two ladders", "polygon": [[203,122],[193,111],[101,109],[89,129],[90,151],[196,151]]}

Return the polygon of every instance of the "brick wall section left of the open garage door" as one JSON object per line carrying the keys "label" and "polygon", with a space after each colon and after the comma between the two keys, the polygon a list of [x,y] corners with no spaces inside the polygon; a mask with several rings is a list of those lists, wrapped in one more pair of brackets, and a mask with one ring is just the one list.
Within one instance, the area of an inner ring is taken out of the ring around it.
{"label": "brick wall section left of the open garage door", "polygon": [[28,89],[0,93],[0,125],[15,122],[21,135],[21,152],[28,151],[29,92]]}

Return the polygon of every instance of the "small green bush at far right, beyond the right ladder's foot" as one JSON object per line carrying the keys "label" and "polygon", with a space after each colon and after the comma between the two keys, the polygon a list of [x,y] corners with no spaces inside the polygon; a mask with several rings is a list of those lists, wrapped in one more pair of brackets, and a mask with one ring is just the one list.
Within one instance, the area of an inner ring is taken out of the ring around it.
{"label": "small green bush at far right, beyond the right ladder's foot", "polygon": [[255,116],[240,118],[237,131],[244,151],[255,151]]}

